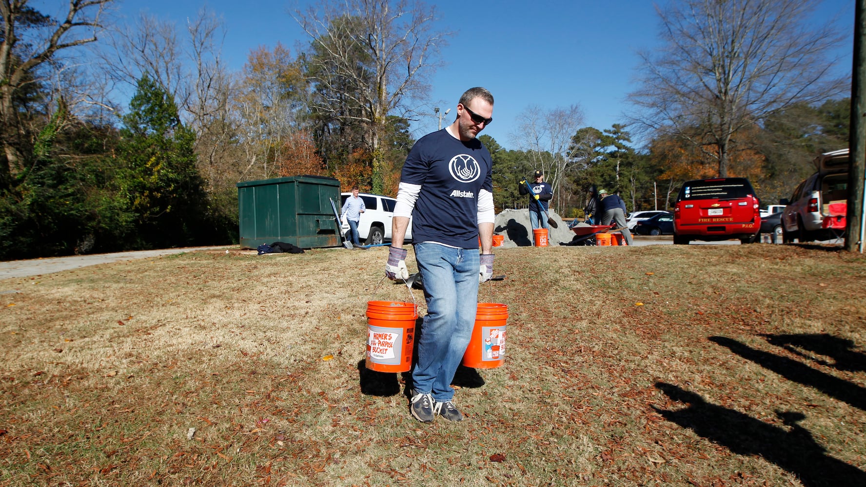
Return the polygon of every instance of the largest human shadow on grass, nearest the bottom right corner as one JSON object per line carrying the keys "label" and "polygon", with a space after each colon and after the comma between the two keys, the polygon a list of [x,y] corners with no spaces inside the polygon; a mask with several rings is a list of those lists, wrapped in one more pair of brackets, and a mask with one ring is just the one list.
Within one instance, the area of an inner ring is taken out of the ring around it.
{"label": "largest human shadow on grass, nearest the bottom right corner", "polygon": [[738,455],[759,455],[796,475],[806,487],[866,485],[866,472],[827,455],[811,433],[798,425],[805,419],[803,413],[776,411],[787,428],[772,426],[673,384],[656,382],[656,388],[688,405],[675,411],[653,406],[666,420]]}

